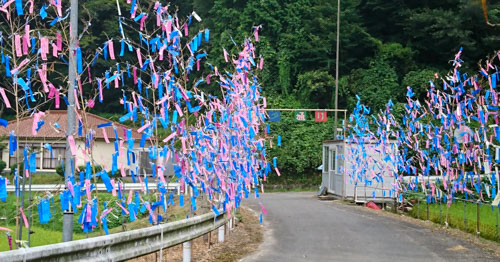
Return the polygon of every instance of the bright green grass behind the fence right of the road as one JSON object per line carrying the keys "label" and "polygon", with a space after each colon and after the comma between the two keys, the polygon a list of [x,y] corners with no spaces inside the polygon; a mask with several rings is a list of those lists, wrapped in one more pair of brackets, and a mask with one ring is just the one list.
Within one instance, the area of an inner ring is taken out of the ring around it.
{"label": "bright green grass behind the fence right of the road", "polygon": [[[480,236],[489,240],[500,242],[499,233],[497,231],[497,221],[498,216],[500,215],[498,207],[492,208],[491,205],[481,204],[479,211]],[[420,201],[419,205],[415,203],[409,214],[415,218],[427,219],[427,203],[425,201]],[[429,220],[444,225],[446,221],[446,204],[429,204]],[[462,201],[454,202],[449,209],[448,224],[450,227],[476,234],[477,204]]]}

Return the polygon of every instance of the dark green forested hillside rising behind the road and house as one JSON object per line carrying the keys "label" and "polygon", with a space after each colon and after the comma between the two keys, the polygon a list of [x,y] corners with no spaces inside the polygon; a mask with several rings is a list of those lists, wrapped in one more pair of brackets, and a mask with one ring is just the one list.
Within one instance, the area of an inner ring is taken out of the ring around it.
{"label": "dark green forested hillside rising behind the road and house", "polygon": [[[120,1],[127,6],[126,0]],[[223,64],[220,47],[231,53],[254,26],[262,26],[258,49],[265,62],[259,78],[268,107],[334,108],[337,1],[170,2],[170,8],[178,8],[181,16],[195,10],[203,26],[210,28],[210,46],[216,47],[207,50],[212,64]],[[85,6],[81,13],[93,19],[91,37],[81,40],[83,48],[120,38],[114,0],[80,3]],[[500,24],[500,0],[487,1],[487,7],[490,22]],[[466,62],[462,71],[472,73],[477,72],[480,59],[500,49],[500,26],[486,24],[480,0],[342,0],[340,19],[339,108],[351,109],[356,94],[372,110],[389,99],[398,108],[406,86],[424,96],[428,81],[436,72],[446,74],[448,61],[460,47]],[[113,66],[110,60],[97,63],[102,70]],[[219,90],[216,84],[205,88],[207,93]],[[110,92],[121,95],[119,89]],[[97,113],[122,110],[118,102],[97,103],[94,108]],[[269,149],[269,154],[278,157],[287,177],[307,179],[317,172],[321,141],[333,136],[332,117],[326,123],[295,122],[292,115],[283,113],[281,122],[271,123],[271,132],[282,136],[283,145]]]}

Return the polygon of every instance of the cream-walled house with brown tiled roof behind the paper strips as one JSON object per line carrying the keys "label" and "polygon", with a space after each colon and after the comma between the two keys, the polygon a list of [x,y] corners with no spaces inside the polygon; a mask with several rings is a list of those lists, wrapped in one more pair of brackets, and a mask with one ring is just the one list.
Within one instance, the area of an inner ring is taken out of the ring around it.
{"label": "cream-walled house with brown tiled roof behind the paper strips", "polygon": [[[139,148],[142,134],[136,129],[127,127],[120,123],[112,122],[106,118],[97,116],[95,114],[86,113],[85,117],[87,125],[79,124],[78,117],[75,120],[75,145],[77,154],[75,156],[77,166],[84,165],[89,160],[89,156],[85,154],[85,130],[91,130],[94,139],[92,156],[96,163],[103,165],[106,170],[111,170],[113,162],[113,154],[115,153],[115,140],[116,136],[119,138],[119,156],[117,159],[118,165],[127,165],[127,142],[129,135],[135,141],[134,158],[137,158],[137,163],[142,162],[141,168],[151,166],[147,153],[143,148]],[[21,118],[19,124],[16,120],[10,121],[7,127],[0,126],[0,136],[9,134],[14,131],[17,136],[19,144],[19,161],[23,161],[23,151],[28,147],[30,152],[36,152],[36,168],[40,172],[54,172],[56,167],[64,161],[66,150],[66,127],[67,127],[67,113],[66,110],[49,110],[45,112],[45,116],[40,118],[43,121],[36,132],[39,122],[34,122],[34,117]],[[104,127],[103,127],[104,126]],[[127,131],[129,130],[129,131]],[[116,133],[115,133],[116,131]],[[36,133],[35,135],[33,133]],[[8,142],[8,138],[6,139]],[[44,147],[49,144],[52,148],[52,154],[49,149]],[[151,145],[150,140],[146,140],[145,147]],[[8,147],[0,152],[1,159],[7,163],[7,169],[16,163],[16,154],[9,155]],[[131,157],[129,155],[129,157]],[[130,159],[129,159],[130,160]]]}

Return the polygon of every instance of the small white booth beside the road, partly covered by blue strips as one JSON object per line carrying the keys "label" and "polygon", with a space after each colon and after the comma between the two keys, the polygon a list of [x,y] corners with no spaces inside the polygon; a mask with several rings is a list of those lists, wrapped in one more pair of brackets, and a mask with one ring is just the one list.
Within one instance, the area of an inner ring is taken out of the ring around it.
{"label": "small white booth beside the road, partly covered by blue strips", "polygon": [[338,198],[357,203],[394,201],[394,141],[388,145],[367,142],[362,146],[345,140],[323,142],[322,187]]}

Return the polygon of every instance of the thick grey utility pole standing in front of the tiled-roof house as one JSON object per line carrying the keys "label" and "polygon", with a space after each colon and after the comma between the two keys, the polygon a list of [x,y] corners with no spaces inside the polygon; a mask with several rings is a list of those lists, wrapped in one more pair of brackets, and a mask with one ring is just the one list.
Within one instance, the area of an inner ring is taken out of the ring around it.
{"label": "thick grey utility pole standing in front of the tiled-roof house", "polygon": [[[66,137],[73,135],[75,132],[75,81],[76,81],[76,45],[78,41],[78,0],[71,0],[69,27],[69,68],[68,68],[68,109],[67,109],[67,129]],[[64,183],[68,188],[71,174],[73,173],[71,162],[73,155],[69,147],[69,142],[66,139],[66,154],[64,163]],[[73,240],[73,210],[69,205],[70,210],[65,211],[63,215],[63,242]]]}

